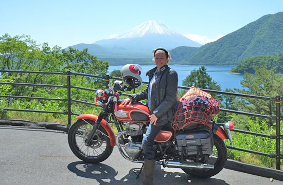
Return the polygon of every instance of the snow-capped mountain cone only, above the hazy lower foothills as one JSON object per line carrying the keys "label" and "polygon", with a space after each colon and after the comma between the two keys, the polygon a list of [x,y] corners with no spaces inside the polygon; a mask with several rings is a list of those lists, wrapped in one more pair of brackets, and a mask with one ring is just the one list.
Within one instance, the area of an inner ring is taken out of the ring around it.
{"label": "snow-capped mountain cone only, above the hazy lower foothills", "polygon": [[173,49],[178,46],[201,46],[201,44],[177,33],[160,21],[147,21],[115,38],[97,41],[93,44],[126,54],[139,52],[150,54],[157,47]]}

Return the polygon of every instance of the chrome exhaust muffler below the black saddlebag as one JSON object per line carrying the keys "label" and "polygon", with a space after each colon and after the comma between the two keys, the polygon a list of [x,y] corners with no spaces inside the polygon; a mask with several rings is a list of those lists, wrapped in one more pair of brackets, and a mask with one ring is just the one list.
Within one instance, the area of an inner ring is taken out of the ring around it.
{"label": "chrome exhaust muffler below the black saddlebag", "polygon": [[214,169],[214,165],[197,163],[197,162],[187,162],[187,161],[174,161],[166,160],[162,163],[164,167],[168,168],[185,168],[185,169]]}

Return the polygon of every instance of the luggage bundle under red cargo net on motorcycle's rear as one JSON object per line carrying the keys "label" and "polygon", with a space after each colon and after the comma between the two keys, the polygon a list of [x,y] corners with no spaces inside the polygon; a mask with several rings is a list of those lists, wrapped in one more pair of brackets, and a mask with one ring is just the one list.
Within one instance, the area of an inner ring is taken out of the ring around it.
{"label": "luggage bundle under red cargo net on motorcycle's rear", "polygon": [[189,130],[201,126],[200,124],[206,125],[218,113],[218,102],[209,93],[191,86],[179,99],[171,125],[174,131]]}

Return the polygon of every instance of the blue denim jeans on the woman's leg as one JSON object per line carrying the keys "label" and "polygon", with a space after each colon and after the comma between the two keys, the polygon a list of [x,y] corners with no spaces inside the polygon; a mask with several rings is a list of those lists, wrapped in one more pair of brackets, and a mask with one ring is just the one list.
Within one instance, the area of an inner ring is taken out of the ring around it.
{"label": "blue denim jeans on the woman's leg", "polygon": [[147,160],[155,161],[155,150],[153,147],[154,139],[157,134],[162,130],[165,125],[152,125],[149,124],[148,130],[143,138],[144,158]]}

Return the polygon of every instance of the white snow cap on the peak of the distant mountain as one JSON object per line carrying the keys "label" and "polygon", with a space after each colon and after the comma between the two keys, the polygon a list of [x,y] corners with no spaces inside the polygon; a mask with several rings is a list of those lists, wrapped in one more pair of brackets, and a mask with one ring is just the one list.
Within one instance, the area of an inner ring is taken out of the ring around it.
{"label": "white snow cap on the peak of the distant mountain", "polygon": [[115,38],[113,39],[141,37],[147,33],[157,33],[157,34],[167,34],[167,35],[178,34],[174,30],[170,29],[165,24],[163,24],[161,21],[150,20],[134,27],[127,33],[123,33],[115,36]]}

